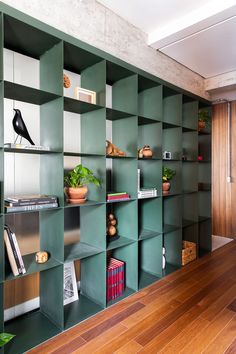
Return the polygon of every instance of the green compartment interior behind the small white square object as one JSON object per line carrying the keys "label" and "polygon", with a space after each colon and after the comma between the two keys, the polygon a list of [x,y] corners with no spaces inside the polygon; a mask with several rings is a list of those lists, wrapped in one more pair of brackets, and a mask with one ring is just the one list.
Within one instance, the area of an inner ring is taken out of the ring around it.
{"label": "green compartment interior behind the small white square object", "polygon": [[182,160],[182,128],[168,128],[163,130],[162,151],[171,152],[171,159]]}

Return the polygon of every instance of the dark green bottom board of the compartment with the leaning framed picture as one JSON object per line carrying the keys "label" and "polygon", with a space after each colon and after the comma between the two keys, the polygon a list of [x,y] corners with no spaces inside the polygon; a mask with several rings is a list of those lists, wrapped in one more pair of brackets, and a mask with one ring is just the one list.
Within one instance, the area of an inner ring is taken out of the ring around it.
{"label": "dark green bottom board of the compartment with the leaning framed picture", "polygon": [[65,329],[86,320],[102,310],[102,306],[80,294],[78,301],[74,301],[64,307]]}

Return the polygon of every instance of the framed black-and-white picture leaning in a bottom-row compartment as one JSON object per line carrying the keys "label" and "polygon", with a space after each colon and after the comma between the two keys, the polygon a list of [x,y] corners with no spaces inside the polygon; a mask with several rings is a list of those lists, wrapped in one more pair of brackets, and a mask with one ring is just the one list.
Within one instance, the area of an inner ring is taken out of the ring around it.
{"label": "framed black-and-white picture leaning in a bottom-row compartment", "polygon": [[79,299],[74,262],[64,264],[64,305]]}

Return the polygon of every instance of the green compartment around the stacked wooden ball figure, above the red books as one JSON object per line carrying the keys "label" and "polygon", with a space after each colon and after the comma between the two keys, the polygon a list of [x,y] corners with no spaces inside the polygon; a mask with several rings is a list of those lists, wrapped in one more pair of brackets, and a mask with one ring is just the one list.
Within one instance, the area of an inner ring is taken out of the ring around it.
{"label": "green compartment around the stacked wooden ball figure, above the red books", "polygon": [[129,203],[107,204],[106,219],[110,213],[114,214],[117,220],[115,225],[117,235],[120,236],[117,240],[112,240],[112,237],[107,235],[108,250],[121,247],[138,239],[137,209],[137,200]]}

